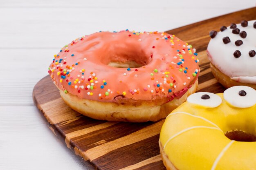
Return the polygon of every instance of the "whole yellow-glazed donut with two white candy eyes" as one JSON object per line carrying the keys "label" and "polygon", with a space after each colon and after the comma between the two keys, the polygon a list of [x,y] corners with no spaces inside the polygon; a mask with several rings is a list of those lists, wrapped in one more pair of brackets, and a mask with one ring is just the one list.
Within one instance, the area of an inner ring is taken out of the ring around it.
{"label": "whole yellow-glazed donut with two white candy eyes", "polygon": [[167,170],[256,170],[256,91],[190,95],[166,117],[159,146]]}

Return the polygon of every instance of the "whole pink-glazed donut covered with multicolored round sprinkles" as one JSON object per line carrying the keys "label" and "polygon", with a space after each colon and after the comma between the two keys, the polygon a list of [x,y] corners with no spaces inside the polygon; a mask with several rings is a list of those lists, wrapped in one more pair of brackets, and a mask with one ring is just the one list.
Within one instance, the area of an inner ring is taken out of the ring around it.
{"label": "whole pink-glazed donut covered with multicolored round sprinkles", "polygon": [[168,33],[99,31],[65,45],[48,73],[64,102],[83,115],[157,121],[195,93],[197,55]]}

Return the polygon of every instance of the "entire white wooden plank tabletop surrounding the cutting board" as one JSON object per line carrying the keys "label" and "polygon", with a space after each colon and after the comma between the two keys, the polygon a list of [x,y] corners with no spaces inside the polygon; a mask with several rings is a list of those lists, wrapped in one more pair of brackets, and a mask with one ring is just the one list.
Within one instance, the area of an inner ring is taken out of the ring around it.
{"label": "entire white wooden plank tabletop surrounding the cutting board", "polygon": [[53,55],[100,30],[166,31],[255,0],[0,0],[0,170],[84,170],[32,101]]}

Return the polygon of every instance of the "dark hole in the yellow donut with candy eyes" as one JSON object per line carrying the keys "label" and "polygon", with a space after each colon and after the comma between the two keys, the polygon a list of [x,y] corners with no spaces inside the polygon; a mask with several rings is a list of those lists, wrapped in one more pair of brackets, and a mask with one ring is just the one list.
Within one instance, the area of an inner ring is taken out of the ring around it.
{"label": "dark hole in the yellow donut with candy eyes", "polygon": [[254,142],[256,141],[256,136],[253,134],[246,133],[242,130],[233,130],[226,132],[225,136],[230,140],[234,141],[245,141],[245,142]]}

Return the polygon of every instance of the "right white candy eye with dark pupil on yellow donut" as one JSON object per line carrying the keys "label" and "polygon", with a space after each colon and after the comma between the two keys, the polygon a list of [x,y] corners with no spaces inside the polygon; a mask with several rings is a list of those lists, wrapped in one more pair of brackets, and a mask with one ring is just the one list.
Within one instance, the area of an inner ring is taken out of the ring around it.
{"label": "right white candy eye with dark pupil on yellow donut", "polygon": [[228,88],[223,97],[230,105],[237,108],[249,108],[256,104],[256,90],[248,86]]}

